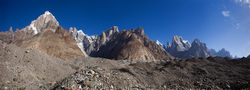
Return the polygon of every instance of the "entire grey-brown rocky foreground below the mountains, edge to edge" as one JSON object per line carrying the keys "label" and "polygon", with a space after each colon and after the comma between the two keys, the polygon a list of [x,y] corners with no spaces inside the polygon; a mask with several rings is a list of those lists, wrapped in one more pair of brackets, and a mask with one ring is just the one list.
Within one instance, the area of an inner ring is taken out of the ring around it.
{"label": "entire grey-brown rocky foreground below the mountains, edge to edge", "polygon": [[0,43],[0,88],[250,89],[250,60],[220,57],[136,62],[79,57],[64,61]]}

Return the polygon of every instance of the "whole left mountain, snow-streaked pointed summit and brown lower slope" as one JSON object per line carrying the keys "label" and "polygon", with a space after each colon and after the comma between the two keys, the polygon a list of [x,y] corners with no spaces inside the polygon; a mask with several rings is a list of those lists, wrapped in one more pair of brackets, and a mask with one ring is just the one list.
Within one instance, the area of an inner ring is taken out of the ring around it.
{"label": "whole left mountain, snow-streaked pointed summit and brown lower slope", "polygon": [[46,11],[29,26],[13,32],[0,32],[0,39],[29,50],[40,50],[63,60],[86,56],[75,43],[68,30],[63,29],[55,17]]}

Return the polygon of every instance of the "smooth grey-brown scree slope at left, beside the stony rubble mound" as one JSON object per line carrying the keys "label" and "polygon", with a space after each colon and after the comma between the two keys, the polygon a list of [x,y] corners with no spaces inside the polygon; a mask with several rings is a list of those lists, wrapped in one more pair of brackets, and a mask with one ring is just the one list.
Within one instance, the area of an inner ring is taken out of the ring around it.
{"label": "smooth grey-brown scree slope at left, beside the stony rubble mound", "polygon": [[73,72],[64,60],[0,41],[0,90],[36,90]]}

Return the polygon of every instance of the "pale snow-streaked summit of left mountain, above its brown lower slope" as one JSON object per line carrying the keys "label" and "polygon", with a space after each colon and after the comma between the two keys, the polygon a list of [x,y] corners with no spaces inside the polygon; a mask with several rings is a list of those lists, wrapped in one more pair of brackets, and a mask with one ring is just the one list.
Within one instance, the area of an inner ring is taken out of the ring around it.
{"label": "pale snow-streaked summit of left mountain, above its brown lower slope", "polygon": [[33,20],[30,25],[21,30],[16,29],[14,32],[11,28],[10,32],[0,32],[0,40],[7,43],[22,41],[31,38],[46,29],[52,29],[55,32],[58,26],[59,23],[56,18],[49,11],[46,11],[36,20]]}

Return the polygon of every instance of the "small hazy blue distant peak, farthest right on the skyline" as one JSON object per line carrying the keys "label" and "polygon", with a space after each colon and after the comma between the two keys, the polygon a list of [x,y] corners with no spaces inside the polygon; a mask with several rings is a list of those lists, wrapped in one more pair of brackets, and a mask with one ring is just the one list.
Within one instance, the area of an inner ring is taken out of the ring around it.
{"label": "small hazy blue distant peak, farthest right on the skyline", "polygon": [[230,54],[229,51],[227,51],[225,48],[222,48],[221,50],[219,50],[218,52],[214,49],[210,49],[210,53],[213,56],[220,56],[220,57],[231,57],[232,55]]}

